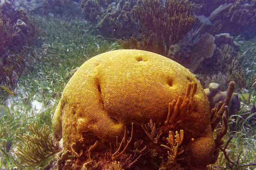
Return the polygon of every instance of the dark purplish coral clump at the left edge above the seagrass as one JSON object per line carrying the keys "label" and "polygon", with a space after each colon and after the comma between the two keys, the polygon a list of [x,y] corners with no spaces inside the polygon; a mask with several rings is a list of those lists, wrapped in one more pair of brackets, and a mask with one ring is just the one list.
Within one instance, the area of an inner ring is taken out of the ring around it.
{"label": "dark purplish coral clump at the left edge above the seagrass", "polygon": [[25,11],[14,10],[8,0],[0,2],[0,85],[12,91],[25,69],[24,59],[12,53],[27,45],[34,36],[34,29],[34,22]]}

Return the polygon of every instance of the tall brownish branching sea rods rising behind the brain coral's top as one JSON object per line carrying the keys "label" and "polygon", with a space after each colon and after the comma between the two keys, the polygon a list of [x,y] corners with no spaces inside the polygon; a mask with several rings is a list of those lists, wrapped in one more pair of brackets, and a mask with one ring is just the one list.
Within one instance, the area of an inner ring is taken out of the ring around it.
{"label": "tall brownish branching sea rods rising behind the brain coral's top", "polygon": [[185,0],[166,0],[164,6],[159,0],[145,0],[135,7],[135,16],[143,33],[141,41],[131,37],[117,42],[125,49],[148,50],[164,56],[171,45],[191,31],[195,22],[191,4]]}

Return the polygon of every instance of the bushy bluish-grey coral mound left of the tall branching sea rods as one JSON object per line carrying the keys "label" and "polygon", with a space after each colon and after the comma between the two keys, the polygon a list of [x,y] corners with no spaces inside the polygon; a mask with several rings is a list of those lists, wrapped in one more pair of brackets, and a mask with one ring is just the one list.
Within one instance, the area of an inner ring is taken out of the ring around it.
{"label": "bushy bluish-grey coral mound left of the tall branching sea rods", "polygon": [[134,7],[141,0],[83,0],[81,9],[98,33],[108,38],[137,36]]}

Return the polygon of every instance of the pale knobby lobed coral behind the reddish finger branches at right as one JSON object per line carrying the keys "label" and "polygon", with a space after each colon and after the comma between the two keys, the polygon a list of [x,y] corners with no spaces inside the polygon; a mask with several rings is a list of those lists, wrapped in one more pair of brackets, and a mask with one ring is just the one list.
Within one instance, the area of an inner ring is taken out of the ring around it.
{"label": "pale knobby lobed coral behind the reddish finger branches at right", "polygon": [[[214,107],[218,107],[218,103],[220,101],[224,102],[227,91],[222,92],[220,91],[220,85],[217,83],[210,83],[209,88],[204,89],[204,92],[207,95],[207,98],[209,100],[210,109],[213,109]],[[229,113],[234,114],[237,111],[240,110],[240,101],[238,100],[238,94],[233,93],[231,98],[231,103],[229,105]]]}

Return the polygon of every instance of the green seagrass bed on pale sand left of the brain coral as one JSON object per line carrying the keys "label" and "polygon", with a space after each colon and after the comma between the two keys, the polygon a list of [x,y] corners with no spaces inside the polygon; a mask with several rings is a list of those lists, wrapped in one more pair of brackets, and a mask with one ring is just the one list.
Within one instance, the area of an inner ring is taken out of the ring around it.
{"label": "green seagrass bed on pale sand left of the brain coral", "polygon": [[[26,56],[26,67],[16,89],[9,93],[0,87],[0,104],[9,109],[9,115],[0,117],[0,167],[4,169],[17,167],[11,158],[17,146],[23,146],[18,145],[23,134],[29,135],[29,124],[37,122],[38,130],[48,126],[52,133],[52,115],[67,83],[65,74],[97,54],[121,48],[100,35],[91,35],[90,26],[79,20],[61,24],[53,18],[36,17],[35,25],[36,43],[20,52]],[[48,162],[31,165],[40,168]]]}

